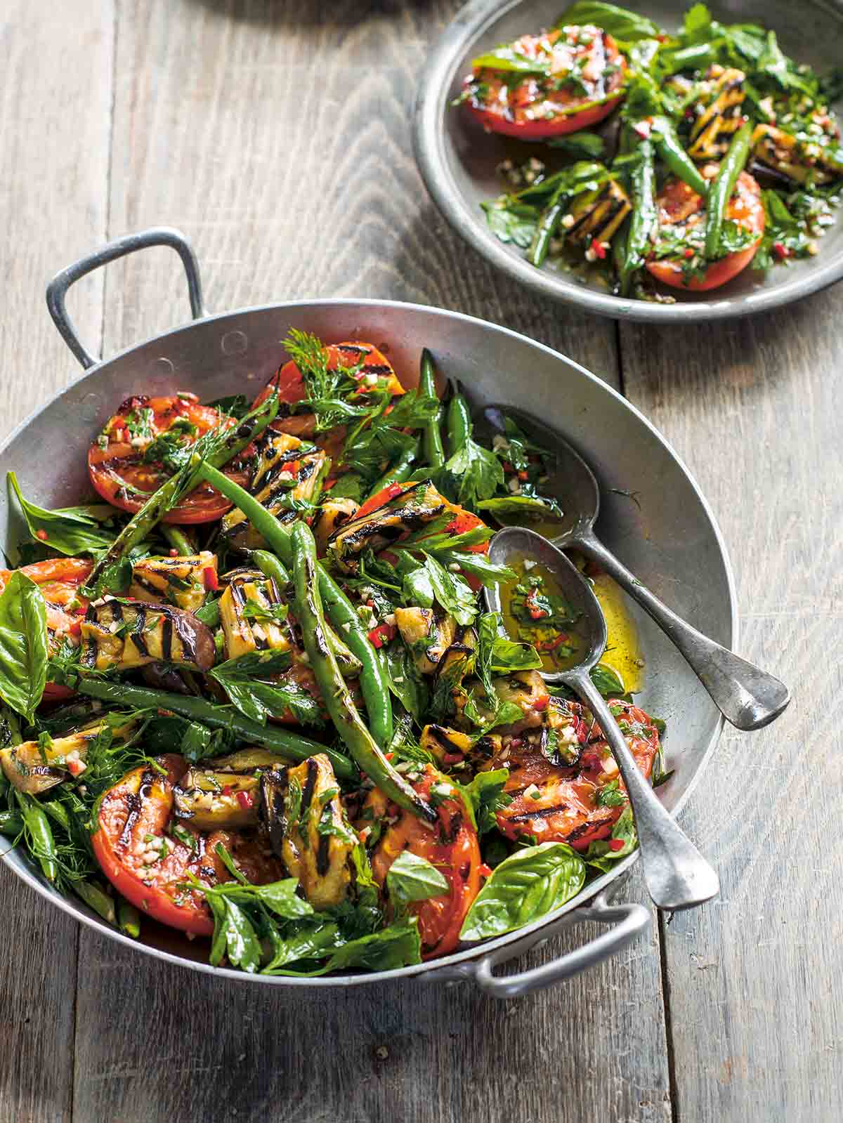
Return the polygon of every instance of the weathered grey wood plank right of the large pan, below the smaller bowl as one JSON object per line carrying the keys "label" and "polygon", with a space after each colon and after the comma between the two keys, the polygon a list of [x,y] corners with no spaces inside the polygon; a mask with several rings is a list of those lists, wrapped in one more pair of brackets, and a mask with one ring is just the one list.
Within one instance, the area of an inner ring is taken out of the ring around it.
{"label": "weathered grey wood plank right of the large pan, below the smaller bowl", "polygon": [[683,815],[723,892],[665,929],[680,1121],[843,1114],[840,313],[832,290],[716,331],[622,330],[628,396],[720,521],[740,649],[795,694],[723,738]]}

